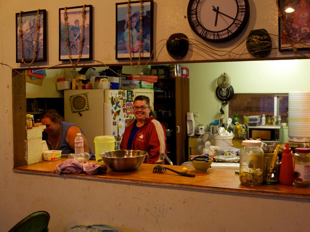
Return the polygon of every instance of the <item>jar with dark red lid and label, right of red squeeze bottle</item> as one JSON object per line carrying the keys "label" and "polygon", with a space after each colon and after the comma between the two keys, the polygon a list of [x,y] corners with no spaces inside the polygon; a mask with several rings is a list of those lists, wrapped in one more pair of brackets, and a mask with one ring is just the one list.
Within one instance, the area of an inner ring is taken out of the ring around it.
{"label": "jar with dark red lid and label, right of red squeeze bottle", "polygon": [[310,148],[296,148],[294,154],[294,186],[310,186]]}

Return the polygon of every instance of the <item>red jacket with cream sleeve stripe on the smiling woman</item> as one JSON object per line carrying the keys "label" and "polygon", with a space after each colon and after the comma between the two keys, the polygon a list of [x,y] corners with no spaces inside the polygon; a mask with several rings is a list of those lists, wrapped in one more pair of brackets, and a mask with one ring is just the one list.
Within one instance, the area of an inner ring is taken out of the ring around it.
{"label": "red jacket with cream sleeve stripe on the smiling woman", "polygon": [[[125,129],[120,147],[127,149],[128,139],[136,119],[132,121]],[[144,163],[163,164],[164,157],[162,153],[167,154],[166,148],[166,129],[162,123],[154,119],[153,116],[144,120],[144,124],[135,134],[131,145],[131,150],[141,150],[148,152]]]}

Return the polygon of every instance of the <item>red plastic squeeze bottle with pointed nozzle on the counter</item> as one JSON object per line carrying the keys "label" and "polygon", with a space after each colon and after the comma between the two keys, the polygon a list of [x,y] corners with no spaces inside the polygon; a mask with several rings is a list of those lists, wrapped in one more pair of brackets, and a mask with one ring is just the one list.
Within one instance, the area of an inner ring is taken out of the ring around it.
{"label": "red plastic squeeze bottle with pointed nozzle on the counter", "polygon": [[293,184],[294,183],[294,166],[293,166],[293,154],[292,149],[289,144],[286,143],[285,148],[283,148],[281,168],[279,181],[281,184]]}

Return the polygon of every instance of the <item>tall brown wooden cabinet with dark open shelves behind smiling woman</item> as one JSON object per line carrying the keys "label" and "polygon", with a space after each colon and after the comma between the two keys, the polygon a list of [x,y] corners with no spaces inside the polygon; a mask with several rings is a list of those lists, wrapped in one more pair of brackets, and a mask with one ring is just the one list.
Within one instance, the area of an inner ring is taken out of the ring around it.
{"label": "tall brown wooden cabinet with dark open shelves behind smiling woman", "polygon": [[158,79],[154,83],[154,110],[166,129],[167,155],[175,165],[187,161],[186,113],[189,112],[189,79]]}

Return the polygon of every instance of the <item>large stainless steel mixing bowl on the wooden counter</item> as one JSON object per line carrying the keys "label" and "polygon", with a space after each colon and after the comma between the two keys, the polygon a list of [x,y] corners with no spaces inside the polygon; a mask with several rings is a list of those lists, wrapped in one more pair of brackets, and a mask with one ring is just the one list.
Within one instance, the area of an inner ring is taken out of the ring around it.
{"label": "large stainless steel mixing bowl on the wooden counter", "polygon": [[137,169],[148,155],[139,150],[115,150],[100,154],[105,165],[113,171],[132,171]]}

